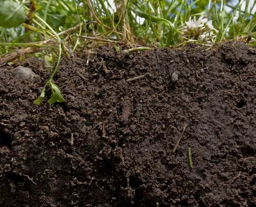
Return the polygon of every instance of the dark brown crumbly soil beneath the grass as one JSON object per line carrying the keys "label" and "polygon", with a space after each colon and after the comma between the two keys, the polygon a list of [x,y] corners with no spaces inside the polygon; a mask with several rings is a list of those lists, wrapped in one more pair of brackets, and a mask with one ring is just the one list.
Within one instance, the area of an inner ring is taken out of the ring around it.
{"label": "dark brown crumbly soil beneath the grass", "polygon": [[0,68],[1,207],[256,206],[255,48],[101,47],[63,58],[66,102],[39,107],[49,73],[23,65],[40,82]]}

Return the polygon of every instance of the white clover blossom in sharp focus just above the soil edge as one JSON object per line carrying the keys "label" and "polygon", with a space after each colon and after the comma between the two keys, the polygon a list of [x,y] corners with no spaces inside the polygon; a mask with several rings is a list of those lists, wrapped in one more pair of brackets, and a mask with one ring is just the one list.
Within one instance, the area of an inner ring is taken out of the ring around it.
{"label": "white clover blossom in sharp focus just above the soil edge", "polygon": [[185,24],[186,25],[183,27],[183,37],[190,40],[198,40],[200,42],[211,44],[216,37],[216,35],[213,34],[218,33],[218,30],[214,29],[212,21],[208,21],[208,19],[203,18],[203,16],[199,17],[198,20],[196,20],[195,16],[194,19],[190,17]]}

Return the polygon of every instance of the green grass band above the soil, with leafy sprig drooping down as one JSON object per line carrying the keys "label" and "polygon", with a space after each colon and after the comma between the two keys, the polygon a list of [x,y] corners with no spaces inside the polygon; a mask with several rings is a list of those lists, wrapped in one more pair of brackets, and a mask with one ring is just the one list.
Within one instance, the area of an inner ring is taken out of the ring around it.
{"label": "green grass band above the soil, with leafy sprig drooping down", "polygon": [[[45,87],[52,90],[49,102],[64,101],[58,86],[53,85],[62,54],[68,56],[84,47],[95,47],[94,42],[114,44],[116,50],[119,44],[125,44],[125,52],[143,50],[141,46],[173,47],[189,42],[211,45],[239,38],[256,45],[254,0],[9,1],[24,4],[28,20],[14,28],[0,27],[0,57],[17,49],[41,47],[34,55],[42,56],[45,65],[57,61],[37,104],[44,97]],[[211,20],[218,30],[210,44],[183,36],[189,18],[201,16]]]}

